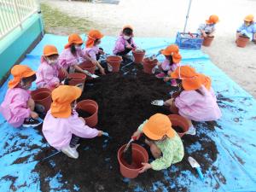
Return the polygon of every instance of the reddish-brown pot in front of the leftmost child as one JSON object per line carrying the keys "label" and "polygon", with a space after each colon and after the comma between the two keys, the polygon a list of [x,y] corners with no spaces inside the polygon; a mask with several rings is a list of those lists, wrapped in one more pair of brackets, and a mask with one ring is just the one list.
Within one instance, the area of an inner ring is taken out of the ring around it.
{"label": "reddish-brown pot in front of the leftmost child", "polygon": [[51,104],[51,90],[47,88],[33,90],[31,96],[35,102],[35,110],[38,113],[47,113]]}

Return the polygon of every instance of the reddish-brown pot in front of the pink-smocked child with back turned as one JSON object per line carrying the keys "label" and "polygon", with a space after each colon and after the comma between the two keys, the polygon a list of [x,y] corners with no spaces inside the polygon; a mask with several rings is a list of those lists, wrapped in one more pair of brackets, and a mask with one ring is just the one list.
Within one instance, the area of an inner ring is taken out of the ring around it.
{"label": "reddish-brown pot in front of the pink-smocked child with back turned", "polygon": [[84,118],[85,124],[94,127],[98,123],[98,104],[93,100],[83,100],[77,104],[76,109],[82,109],[83,111],[90,113],[90,117]]}

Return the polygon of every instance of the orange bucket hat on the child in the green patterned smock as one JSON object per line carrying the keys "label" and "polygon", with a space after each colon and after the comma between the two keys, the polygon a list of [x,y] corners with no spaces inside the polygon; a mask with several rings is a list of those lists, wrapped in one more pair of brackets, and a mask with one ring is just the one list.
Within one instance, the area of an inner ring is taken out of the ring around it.
{"label": "orange bucket hat on the child in the green patterned smock", "polygon": [[161,113],[156,113],[148,119],[143,126],[143,133],[152,140],[160,140],[165,135],[169,138],[175,136],[170,119]]}

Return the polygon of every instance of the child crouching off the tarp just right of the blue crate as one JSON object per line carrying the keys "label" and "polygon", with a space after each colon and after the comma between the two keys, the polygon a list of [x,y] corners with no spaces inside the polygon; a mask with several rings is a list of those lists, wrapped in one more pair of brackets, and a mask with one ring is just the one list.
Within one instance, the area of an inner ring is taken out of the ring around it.
{"label": "child crouching off the tarp just right of the blue crate", "polygon": [[206,20],[205,24],[201,24],[197,30],[197,33],[200,34],[203,38],[213,37],[215,32],[215,25],[218,23],[218,16],[211,15],[209,20]]}

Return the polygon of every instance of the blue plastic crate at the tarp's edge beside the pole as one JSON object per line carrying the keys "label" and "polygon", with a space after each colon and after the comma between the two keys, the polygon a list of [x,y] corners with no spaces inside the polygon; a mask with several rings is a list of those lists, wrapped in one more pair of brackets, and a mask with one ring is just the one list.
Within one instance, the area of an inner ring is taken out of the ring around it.
{"label": "blue plastic crate at the tarp's edge beside the pole", "polygon": [[[193,35],[195,38],[192,38]],[[201,49],[203,38],[198,33],[177,32],[175,44],[180,49]]]}

